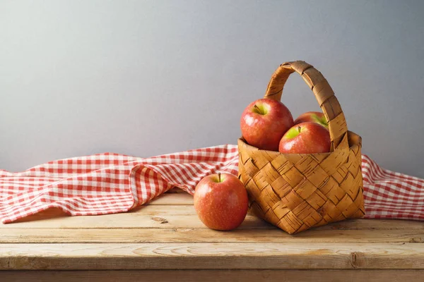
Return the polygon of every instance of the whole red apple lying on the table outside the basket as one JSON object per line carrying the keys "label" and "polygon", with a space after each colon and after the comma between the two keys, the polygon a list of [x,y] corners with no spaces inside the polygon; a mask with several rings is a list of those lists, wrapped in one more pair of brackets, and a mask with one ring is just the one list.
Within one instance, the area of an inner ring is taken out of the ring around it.
{"label": "whole red apple lying on the table outside the basket", "polygon": [[229,173],[211,174],[202,178],[194,190],[194,209],[208,227],[228,231],[245,220],[249,202],[245,185]]}

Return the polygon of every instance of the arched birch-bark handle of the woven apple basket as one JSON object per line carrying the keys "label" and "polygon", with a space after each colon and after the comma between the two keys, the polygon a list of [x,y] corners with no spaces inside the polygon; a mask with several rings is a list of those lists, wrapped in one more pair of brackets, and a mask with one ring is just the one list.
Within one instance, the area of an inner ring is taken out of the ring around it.
{"label": "arched birch-bark handle of the woven apple basket", "polygon": [[264,98],[280,101],[285,82],[288,76],[294,72],[299,73],[309,85],[327,121],[329,121],[331,152],[339,146],[348,147],[348,142],[342,142],[343,137],[348,132],[348,126],[346,125],[346,118],[341,106],[336,96],[334,96],[334,91],[331,89],[329,82],[327,82],[322,73],[309,63],[294,61],[283,63],[279,66],[269,81]]}

